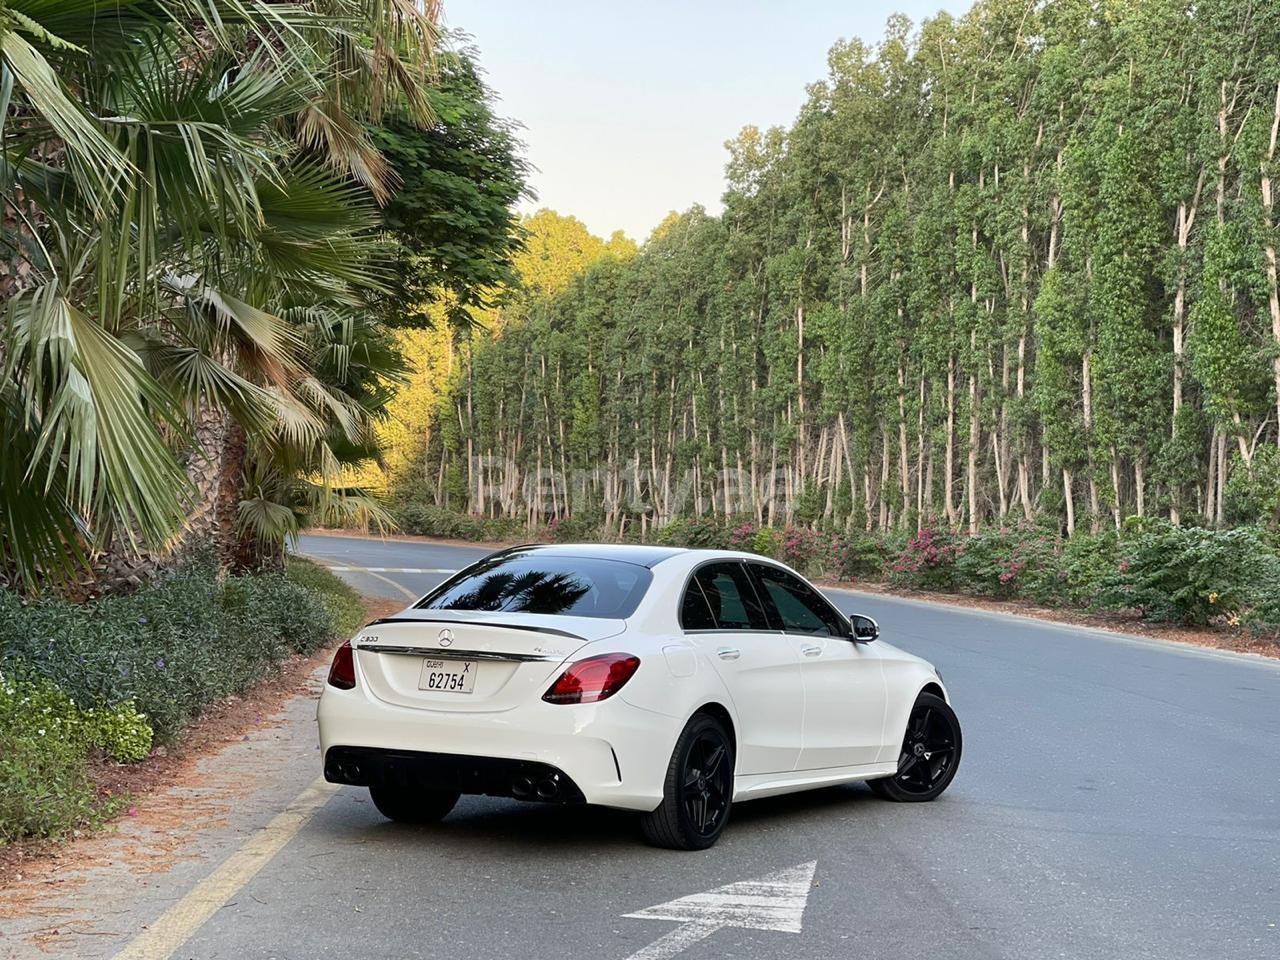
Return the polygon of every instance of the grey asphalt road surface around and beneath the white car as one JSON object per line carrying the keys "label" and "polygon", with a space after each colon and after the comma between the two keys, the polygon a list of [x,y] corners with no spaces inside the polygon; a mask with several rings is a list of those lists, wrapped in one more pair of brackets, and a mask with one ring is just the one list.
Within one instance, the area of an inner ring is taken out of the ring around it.
{"label": "grey asphalt road surface around and beneath the white car", "polygon": [[[393,598],[484,553],[302,550],[375,568],[343,575]],[[463,797],[408,828],[343,788],[175,956],[1280,957],[1280,663],[833,599],[945,675],[965,756],[937,803],[861,786],[760,800],[713,850],[676,854],[608,810]],[[810,861],[799,933],[727,927],[675,954],[676,922],[623,916]]]}

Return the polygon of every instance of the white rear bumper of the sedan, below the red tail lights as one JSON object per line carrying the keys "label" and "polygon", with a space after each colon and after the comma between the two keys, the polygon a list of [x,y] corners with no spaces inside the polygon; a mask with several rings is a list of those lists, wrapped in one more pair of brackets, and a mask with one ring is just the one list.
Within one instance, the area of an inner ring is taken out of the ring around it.
{"label": "white rear bumper of the sedan, below the red tail lights", "polygon": [[[434,777],[442,787],[462,792],[518,796],[516,781],[532,772],[540,774],[531,777],[534,795],[522,799],[540,799],[541,774],[559,773],[572,790],[566,787],[554,799],[631,810],[652,810],[662,803],[678,733],[667,730],[669,718],[621,698],[580,705],[539,700],[495,713],[448,713],[387,704],[358,686],[326,686],[316,717],[325,777],[334,782],[367,783],[369,777],[387,776],[390,769],[422,786],[430,786]],[[352,764],[358,769],[361,760],[371,764],[367,772],[351,769]],[[503,778],[508,778],[507,788],[502,788]]]}

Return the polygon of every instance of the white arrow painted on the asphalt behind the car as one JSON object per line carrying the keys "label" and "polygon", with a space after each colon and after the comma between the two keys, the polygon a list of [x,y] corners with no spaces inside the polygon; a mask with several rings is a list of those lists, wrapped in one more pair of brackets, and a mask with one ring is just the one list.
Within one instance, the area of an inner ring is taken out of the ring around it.
{"label": "white arrow painted on the asphalt behind the car", "polygon": [[680,927],[627,960],[667,960],[722,927],[799,933],[817,868],[818,861],[810,860],[767,877],[726,883],[705,893],[623,914],[636,920],[680,920]]}

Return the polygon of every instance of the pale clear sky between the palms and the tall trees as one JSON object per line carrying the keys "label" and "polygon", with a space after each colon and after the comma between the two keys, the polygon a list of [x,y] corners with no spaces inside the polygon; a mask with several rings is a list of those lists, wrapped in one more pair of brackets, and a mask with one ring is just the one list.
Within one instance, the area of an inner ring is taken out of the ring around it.
{"label": "pale clear sky between the palms and the tall trees", "polygon": [[970,0],[444,0],[536,168],[531,211],[636,241],[671,210],[721,209],[724,141],[788,125],[841,37],[876,42]]}

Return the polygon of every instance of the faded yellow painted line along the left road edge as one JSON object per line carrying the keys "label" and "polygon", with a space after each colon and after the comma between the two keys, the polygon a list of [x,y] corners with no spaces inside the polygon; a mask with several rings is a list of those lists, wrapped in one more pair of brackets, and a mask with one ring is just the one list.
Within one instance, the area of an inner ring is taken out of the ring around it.
{"label": "faded yellow painted line along the left road edge", "polygon": [[266,864],[337,792],[334,783],[316,780],[293,803],[255,833],[216,870],[200,881],[178,902],[118,952],[114,960],[168,960],[192,934]]}

